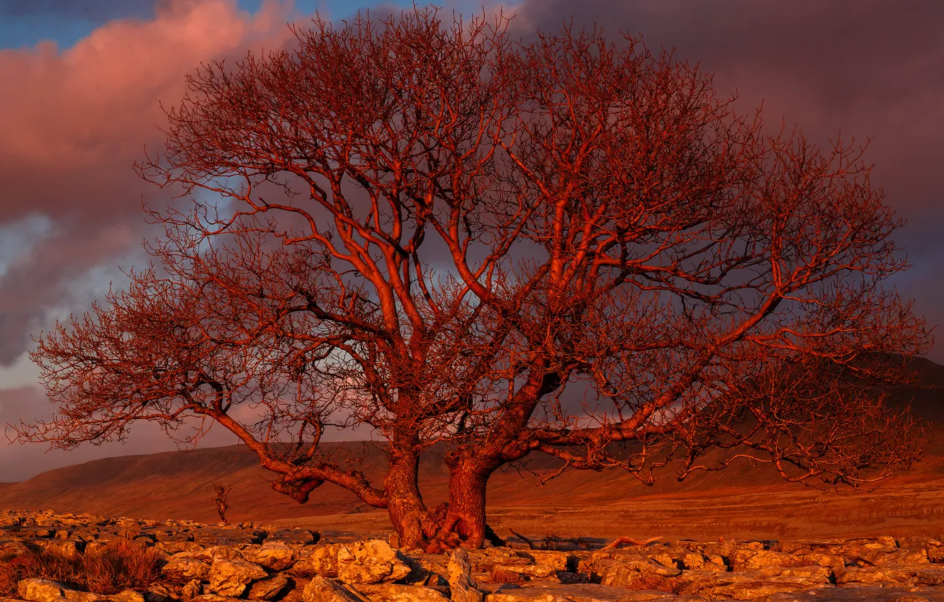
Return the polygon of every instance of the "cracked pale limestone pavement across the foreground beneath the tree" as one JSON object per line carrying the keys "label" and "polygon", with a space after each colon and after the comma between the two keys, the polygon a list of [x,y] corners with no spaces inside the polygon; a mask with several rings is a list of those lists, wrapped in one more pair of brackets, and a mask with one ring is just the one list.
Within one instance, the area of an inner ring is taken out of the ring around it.
{"label": "cracked pale limestone pavement across the foreground beneath the tree", "polygon": [[[53,512],[0,512],[0,556],[88,553],[116,538],[160,550],[142,591],[77,592],[20,581],[33,602],[944,602],[944,544],[892,537],[790,542],[676,541],[601,549],[573,540],[449,556],[305,529],[207,526]],[[535,549],[535,548],[556,549]]]}

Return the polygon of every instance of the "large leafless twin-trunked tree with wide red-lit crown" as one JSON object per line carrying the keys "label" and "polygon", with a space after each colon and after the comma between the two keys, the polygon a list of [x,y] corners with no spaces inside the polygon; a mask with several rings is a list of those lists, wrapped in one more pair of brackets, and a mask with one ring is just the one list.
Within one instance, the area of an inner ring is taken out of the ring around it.
{"label": "large leafless twin-trunked tree with wide red-lit crown", "polygon": [[[480,546],[488,478],[535,451],[647,483],[750,458],[855,486],[914,460],[881,392],[930,336],[882,288],[907,264],[859,150],[768,136],[632,38],[503,26],[316,21],[192,75],[140,170],[194,208],[151,213],[160,269],[39,339],[60,414],[21,439],[219,424],[279,492],[335,483],[427,549]],[[358,426],[379,479],[320,444]]]}

